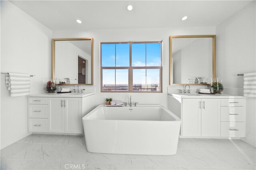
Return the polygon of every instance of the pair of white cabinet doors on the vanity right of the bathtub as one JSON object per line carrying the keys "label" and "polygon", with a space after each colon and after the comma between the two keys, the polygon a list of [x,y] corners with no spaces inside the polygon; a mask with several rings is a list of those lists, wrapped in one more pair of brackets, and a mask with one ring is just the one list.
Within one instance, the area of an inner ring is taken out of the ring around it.
{"label": "pair of white cabinet doors on the vanity right of the bathtub", "polygon": [[220,136],[220,99],[182,99],[182,136]]}

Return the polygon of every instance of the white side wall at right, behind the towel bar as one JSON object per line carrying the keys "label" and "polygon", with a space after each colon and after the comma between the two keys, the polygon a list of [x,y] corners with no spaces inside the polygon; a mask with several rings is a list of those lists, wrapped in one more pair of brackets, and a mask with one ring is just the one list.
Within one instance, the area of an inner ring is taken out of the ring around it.
{"label": "white side wall at right, behind the towel bar", "polygon": [[[256,72],[255,1],[216,26],[217,76],[224,93],[243,95],[243,77],[238,73]],[[256,99],[246,99],[246,137],[256,145]]]}

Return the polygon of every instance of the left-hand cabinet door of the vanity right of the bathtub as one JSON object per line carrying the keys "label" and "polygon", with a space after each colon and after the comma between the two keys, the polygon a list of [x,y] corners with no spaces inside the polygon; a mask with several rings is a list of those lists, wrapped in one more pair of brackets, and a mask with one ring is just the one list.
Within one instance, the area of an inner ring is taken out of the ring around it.
{"label": "left-hand cabinet door of the vanity right of the bathtub", "polygon": [[182,99],[182,136],[201,136],[201,99]]}

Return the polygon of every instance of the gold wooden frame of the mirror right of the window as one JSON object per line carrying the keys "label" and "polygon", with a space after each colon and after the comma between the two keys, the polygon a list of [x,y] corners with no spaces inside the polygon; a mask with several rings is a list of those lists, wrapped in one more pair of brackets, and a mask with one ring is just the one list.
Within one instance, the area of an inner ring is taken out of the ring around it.
{"label": "gold wooden frame of the mirror right of the window", "polygon": [[172,79],[172,39],[173,38],[212,38],[212,78],[216,78],[216,35],[170,36],[170,85],[210,85],[210,84],[174,84]]}

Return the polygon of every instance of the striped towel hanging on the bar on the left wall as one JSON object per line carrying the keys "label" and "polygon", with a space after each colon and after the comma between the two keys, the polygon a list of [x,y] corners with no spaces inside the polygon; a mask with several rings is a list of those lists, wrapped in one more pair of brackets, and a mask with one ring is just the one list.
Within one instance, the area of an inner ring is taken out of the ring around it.
{"label": "striped towel hanging on the bar on the left wall", "polygon": [[5,83],[10,90],[10,96],[29,95],[30,75],[21,73],[8,73],[5,77]]}

